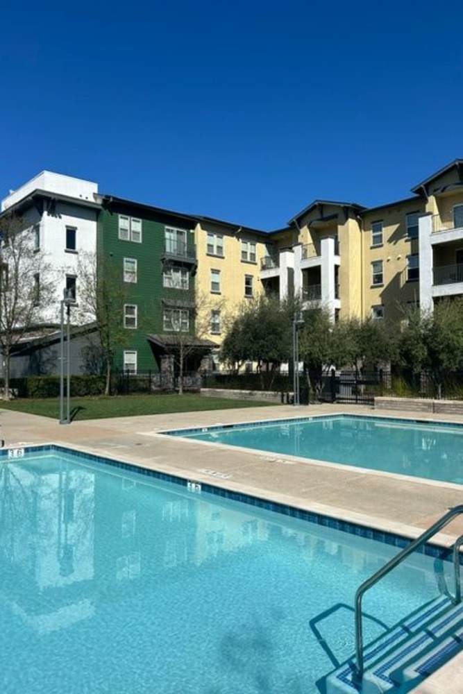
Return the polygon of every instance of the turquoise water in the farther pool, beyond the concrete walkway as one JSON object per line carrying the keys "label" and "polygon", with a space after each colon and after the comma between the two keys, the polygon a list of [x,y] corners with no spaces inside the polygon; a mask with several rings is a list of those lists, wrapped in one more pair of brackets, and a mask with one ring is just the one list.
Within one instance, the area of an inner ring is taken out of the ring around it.
{"label": "turquoise water in the farther pool, beyond the concrete walkway", "polygon": [[328,416],[169,434],[463,484],[463,426]]}

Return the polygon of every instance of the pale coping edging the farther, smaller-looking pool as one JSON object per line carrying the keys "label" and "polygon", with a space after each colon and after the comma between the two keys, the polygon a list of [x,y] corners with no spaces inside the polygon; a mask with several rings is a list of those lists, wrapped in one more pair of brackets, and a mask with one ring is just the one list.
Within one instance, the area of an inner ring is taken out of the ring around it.
{"label": "pale coping edging the farther, smaller-looking pool", "polygon": [[194,433],[205,433],[214,430],[230,430],[238,429],[240,427],[254,428],[260,425],[278,425],[284,423],[294,423],[300,421],[301,423],[314,421],[315,419],[330,419],[333,417],[342,418],[355,418],[355,419],[376,419],[376,420],[392,420],[403,424],[423,424],[423,425],[441,425],[442,427],[453,427],[460,428],[463,434],[463,423],[452,422],[452,421],[436,421],[432,419],[417,419],[417,418],[403,418],[394,417],[392,415],[378,416],[370,414],[346,414],[345,412],[333,412],[332,414],[313,414],[305,417],[294,416],[285,417],[282,419],[267,419],[253,422],[237,422],[233,424],[214,424],[208,427],[192,427],[192,428],[182,428],[182,429],[165,429],[158,430],[153,434],[149,434],[151,437],[171,437],[172,439],[180,439],[181,441],[187,441],[188,443],[199,443],[201,446],[214,446],[215,448],[221,448],[224,450],[237,450],[241,452],[246,452],[251,455],[257,455],[262,457],[262,455],[269,457],[269,459],[281,459],[288,460],[292,462],[298,462],[308,465],[322,465],[330,468],[335,468],[337,470],[349,471],[351,473],[361,473],[364,475],[375,475],[378,477],[388,477],[394,480],[406,480],[407,482],[413,482],[414,484],[428,484],[430,486],[444,486],[446,489],[454,489],[455,491],[463,492],[463,483],[458,482],[446,482],[446,480],[431,480],[428,477],[419,477],[417,475],[404,475],[403,473],[391,473],[384,470],[373,470],[371,468],[364,468],[362,466],[349,465],[347,463],[335,463],[328,460],[321,460],[318,458],[308,458],[300,455],[291,455],[289,453],[278,453],[265,448],[247,448],[246,446],[234,446],[230,443],[221,443],[220,441],[201,441],[201,439],[192,439],[188,436],[182,436],[182,434],[194,434]]}

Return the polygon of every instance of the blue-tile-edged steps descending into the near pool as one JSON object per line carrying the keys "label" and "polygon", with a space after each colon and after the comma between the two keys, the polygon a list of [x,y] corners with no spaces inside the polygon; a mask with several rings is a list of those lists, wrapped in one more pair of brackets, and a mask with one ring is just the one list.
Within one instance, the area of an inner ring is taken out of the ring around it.
{"label": "blue-tile-edged steps descending into the near pool", "polygon": [[365,649],[362,686],[353,659],[326,679],[326,694],[410,691],[463,648],[463,603],[440,596]]}

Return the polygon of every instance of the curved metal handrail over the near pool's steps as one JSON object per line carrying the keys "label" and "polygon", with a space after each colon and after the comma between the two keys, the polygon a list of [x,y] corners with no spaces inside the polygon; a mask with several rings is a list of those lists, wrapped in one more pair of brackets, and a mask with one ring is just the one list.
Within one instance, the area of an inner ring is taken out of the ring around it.
{"label": "curved metal handrail over the near pool's steps", "polygon": [[[439,530],[442,530],[442,528],[445,525],[448,525],[448,523],[450,523],[453,520],[453,518],[455,518],[456,516],[460,516],[461,514],[463,514],[463,504],[460,504],[459,506],[454,506],[453,509],[449,509],[444,516],[439,518],[439,521],[436,521],[433,525],[428,527],[428,530],[425,530],[425,532],[423,532],[419,537],[417,537],[416,540],[411,542],[410,545],[404,547],[401,552],[398,552],[398,555],[396,555],[390,561],[388,561],[387,564],[382,566],[382,568],[376,571],[376,573],[373,573],[373,576],[370,576],[357,589],[357,592],[355,593],[355,660],[357,663],[357,677],[362,677],[364,671],[362,632],[362,598],[364,596],[364,593],[366,593],[370,588],[372,588],[376,583],[378,583],[380,579],[385,577],[385,575],[387,575],[389,571],[392,571],[393,568],[396,568],[396,566],[400,564],[401,561],[403,561],[403,559],[406,559],[408,555],[411,555],[412,552],[414,552],[414,550],[421,547],[421,545],[425,544],[432,536],[439,532]],[[455,569],[455,597],[453,598],[453,602],[455,602],[455,604],[457,602],[461,602],[462,600],[462,589],[460,583],[461,545],[463,545],[463,535],[460,536],[457,540],[455,540],[455,544],[453,545],[453,565]]]}

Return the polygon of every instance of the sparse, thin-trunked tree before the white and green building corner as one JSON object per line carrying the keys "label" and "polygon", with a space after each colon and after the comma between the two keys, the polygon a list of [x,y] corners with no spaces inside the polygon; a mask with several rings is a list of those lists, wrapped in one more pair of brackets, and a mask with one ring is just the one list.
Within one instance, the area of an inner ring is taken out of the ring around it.
{"label": "sparse, thin-trunked tree before the white and green building corner", "polygon": [[126,288],[122,271],[112,262],[98,260],[96,253],[81,253],[78,261],[78,321],[96,321],[103,369],[106,373],[105,395],[110,394],[111,373],[117,350],[127,344],[123,310]]}

